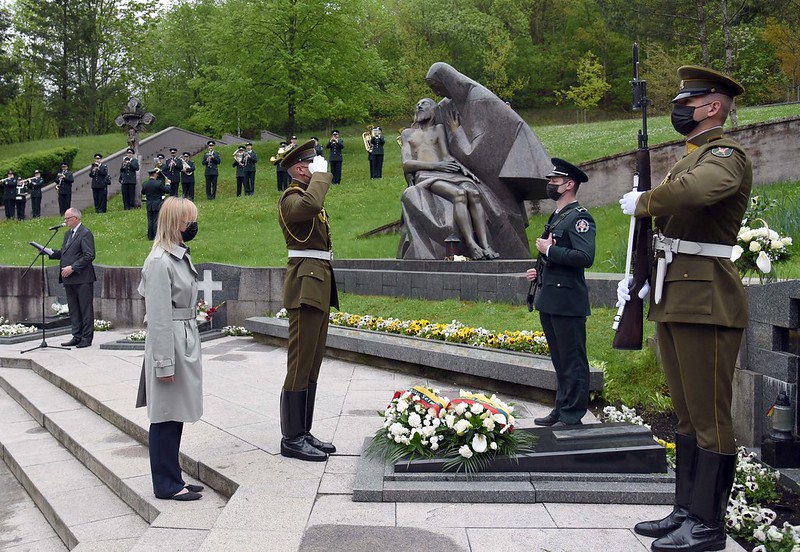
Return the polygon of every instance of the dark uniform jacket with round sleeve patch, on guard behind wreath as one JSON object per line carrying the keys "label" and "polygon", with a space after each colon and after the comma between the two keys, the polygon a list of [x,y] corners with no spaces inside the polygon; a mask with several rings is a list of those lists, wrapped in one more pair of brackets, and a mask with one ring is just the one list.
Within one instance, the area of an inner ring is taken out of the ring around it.
{"label": "dark uniform jacket with round sleeve patch, on guard behind wreath", "polygon": [[584,270],[594,263],[597,229],[589,211],[576,201],[550,215],[545,228],[555,243],[543,255],[536,310],[556,316],[589,316]]}

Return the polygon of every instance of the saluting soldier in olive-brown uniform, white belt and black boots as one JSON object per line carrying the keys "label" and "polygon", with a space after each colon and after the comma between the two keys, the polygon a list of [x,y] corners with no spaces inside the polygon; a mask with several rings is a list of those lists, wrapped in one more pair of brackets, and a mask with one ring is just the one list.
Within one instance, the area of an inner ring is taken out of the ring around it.
{"label": "saluting soldier in olive-brown uniform, white belt and black boots", "polygon": [[278,223],[289,254],[283,285],[289,344],[281,393],[281,455],[325,461],[336,447],[310,432],[329,311],[331,306],[339,308],[324,207],[332,175],[327,161],[317,156],[313,140],[294,148],[281,165],[292,178],[278,203]]}

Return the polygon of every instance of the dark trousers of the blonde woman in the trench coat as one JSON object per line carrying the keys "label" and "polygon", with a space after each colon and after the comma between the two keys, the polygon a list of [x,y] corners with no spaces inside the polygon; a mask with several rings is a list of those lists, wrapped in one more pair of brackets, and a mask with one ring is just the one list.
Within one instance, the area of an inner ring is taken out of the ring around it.
{"label": "dark trousers of the blonde woman in the trench coat", "polygon": [[181,477],[178,458],[182,435],[183,422],[150,424],[147,439],[150,450],[150,473],[153,477],[153,493],[158,498],[171,498],[186,485]]}

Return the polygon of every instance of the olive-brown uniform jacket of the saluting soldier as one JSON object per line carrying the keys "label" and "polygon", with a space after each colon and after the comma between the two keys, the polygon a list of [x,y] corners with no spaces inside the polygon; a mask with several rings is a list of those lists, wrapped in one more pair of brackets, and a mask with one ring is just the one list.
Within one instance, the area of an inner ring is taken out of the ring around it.
{"label": "olive-brown uniform jacket of the saluting soldier", "polygon": [[[294,180],[278,204],[278,223],[287,249],[331,251],[331,228],[325,214],[325,195],[333,175],[314,173],[303,190]],[[336,280],[329,261],[291,258],[283,284],[283,306],[287,309],[310,305],[322,311],[339,308]]]}

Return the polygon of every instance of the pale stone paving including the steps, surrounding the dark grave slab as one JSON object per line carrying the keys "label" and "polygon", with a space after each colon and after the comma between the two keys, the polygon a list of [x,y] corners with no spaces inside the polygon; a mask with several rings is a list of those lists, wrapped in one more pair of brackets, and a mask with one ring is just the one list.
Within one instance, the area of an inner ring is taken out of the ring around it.
{"label": "pale stone paving including the steps, surrounding the dark grave slab", "polygon": [[[146,413],[133,407],[142,352],[99,347],[127,333],[97,333],[94,346],[80,350],[20,354],[35,341],[0,348],[0,550],[66,550],[68,535],[75,550],[104,552],[644,552],[651,539],[635,535],[633,524],[669,511],[650,505],[353,502],[364,439],[381,423],[376,412],[395,390],[421,383],[419,378],[326,359],[314,433],[332,439],[338,452],[326,463],[300,462],[279,454],[286,349],[235,337],[203,344],[205,414],[187,424],[182,446],[187,481],[199,479],[216,492],[207,488],[198,502],[158,501],[140,443]],[[429,383],[444,395],[458,393],[447,382]],[[521,426],[549,411],[529,400],[515,402],[524,416]],[[587,415],[584,422],[596,420]],[[47,506],[37,508],[29,494]],[[726,550],[742,548],[729,539]]]}

